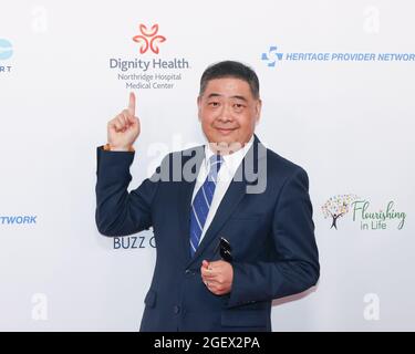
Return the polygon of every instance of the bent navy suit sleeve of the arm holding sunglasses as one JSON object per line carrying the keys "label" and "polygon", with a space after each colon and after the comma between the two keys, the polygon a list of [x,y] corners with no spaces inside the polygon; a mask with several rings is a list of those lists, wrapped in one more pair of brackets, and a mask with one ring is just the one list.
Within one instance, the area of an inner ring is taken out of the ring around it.
{"label": "bent navy suit sleeve of the arm holding sunglasses", "polygon": [[302,292],[320,275],[312,205],[305,170],[288,178],[272,217],[272,262],[232,263],[234,281],[228,306],[267,301]]}

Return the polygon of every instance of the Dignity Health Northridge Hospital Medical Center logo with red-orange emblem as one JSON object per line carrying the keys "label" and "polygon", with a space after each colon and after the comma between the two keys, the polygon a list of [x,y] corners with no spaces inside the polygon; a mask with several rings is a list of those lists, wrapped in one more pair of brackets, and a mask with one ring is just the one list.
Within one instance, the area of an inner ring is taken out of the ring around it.
{"label": "Dignity Health Northridge Hospital Medical Center logo with red-orange emblem", "polygon": [[[158,23],[147,27],[138,24],[138,32],[132,38],[131,50],[134,58],[110,58],[110,70],[116,71],[117,81],[127,90],[175,88],[181,81],[183,73],[190,69],[186,58],[160,58],[159,44],[167,42],[165,35],[158,34]],[[138,51],[137,51],[138,44]]]}

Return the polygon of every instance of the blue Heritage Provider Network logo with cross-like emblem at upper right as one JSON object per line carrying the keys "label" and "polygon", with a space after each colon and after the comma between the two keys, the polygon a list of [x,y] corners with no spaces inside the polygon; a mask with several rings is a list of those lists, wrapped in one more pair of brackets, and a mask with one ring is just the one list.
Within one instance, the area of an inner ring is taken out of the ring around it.
{"label": "blue Heritage Provider Network logo with cross-like emblem at upper right", "polygon": [[261,54],[267,66],[277,62],[415,62],[415,53],[373,53],[373,52],[288,52],[281,53],[277,45],[269,46]]}

